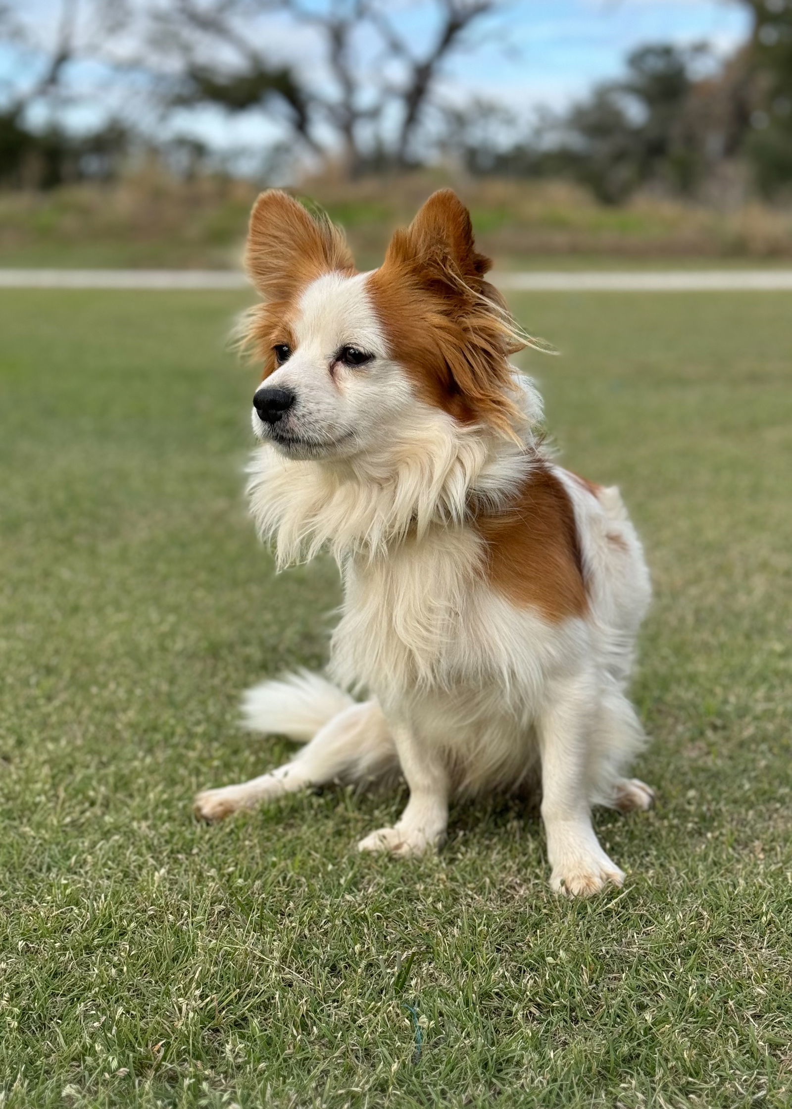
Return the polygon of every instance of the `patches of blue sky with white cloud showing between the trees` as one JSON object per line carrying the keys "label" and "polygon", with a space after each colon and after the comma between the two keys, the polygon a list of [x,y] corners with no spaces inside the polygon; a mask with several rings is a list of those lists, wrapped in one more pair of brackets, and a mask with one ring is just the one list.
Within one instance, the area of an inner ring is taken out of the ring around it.
{"label": "patches of blue sky with white cloud showing between the trees", "polygon": [[[325,0],[313,2],[321,7]],[[433,7],[392,0],[389,10],[403,33],[420,43],[431,34]],[[23,6],[29,24],[44,40],[53,32],[59,8],[58,0],[26,0]],[[481,24],[473,49],[448,64],[443,94],[461,101],[475,92],[504,100],[528,116],[539,105],[561,109],[596,81],[616,77],[626,54],[639,44],[703,40],[715,52],[728,53],[747,31],[748,16],[735,0],[512,0],[504,14]],[[283,20],[265,17],[258,24],[258,37],[262,33],[275,55],[296,59],[312,75],[321,73],[309,32],[295,34]],[[34,65],[34,52],[19,54],[0,47],[0,79],[32,72]],[[93,108],[81,109],[82,119],[90,122],[109,103],[102,69],[84,64],[73,80],[83,91],[94,91]],[[124,95],[129,102],[129,90]],[[243,145],[254,135],[261,143],[263,138],[261,119],[230,121],[213,112],[171,125],[220,145]]]}

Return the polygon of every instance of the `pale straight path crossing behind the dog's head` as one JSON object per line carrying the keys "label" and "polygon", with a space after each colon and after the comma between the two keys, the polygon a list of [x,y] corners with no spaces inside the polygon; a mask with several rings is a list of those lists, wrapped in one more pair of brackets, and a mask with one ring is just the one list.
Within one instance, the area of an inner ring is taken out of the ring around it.
{"label": "pale straight path crossing behind the dog's head", "polygon": [[[495,274],[502,289],[534,292],[693,293],[790,289],[792,269],[536,269]],[[248,288],[223,269],[0,269],[0,288]]]}

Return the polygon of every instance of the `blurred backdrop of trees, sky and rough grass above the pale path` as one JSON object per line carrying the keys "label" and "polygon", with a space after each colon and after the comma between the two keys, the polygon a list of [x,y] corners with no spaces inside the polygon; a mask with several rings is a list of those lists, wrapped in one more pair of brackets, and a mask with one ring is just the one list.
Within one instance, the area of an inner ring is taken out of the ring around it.
{"label": "blurred backdrop of trees, sky and rough grass above the pale path", "polygon": [[286,184],[361,261],[792,255],[792,0],[6,0],[7,265],[225,267]]}

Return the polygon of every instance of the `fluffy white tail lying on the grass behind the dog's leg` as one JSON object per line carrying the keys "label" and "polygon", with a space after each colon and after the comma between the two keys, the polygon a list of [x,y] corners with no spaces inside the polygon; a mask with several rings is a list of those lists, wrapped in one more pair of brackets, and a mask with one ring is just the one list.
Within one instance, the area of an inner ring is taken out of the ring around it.
{"label": "fluffy white tail lying on the grass behind the dog's leg", "polygon": [[252,732],[308,743],[321,728],[355,702],[321,674],[299,670],[254,685],[242,698],[242,722]]}

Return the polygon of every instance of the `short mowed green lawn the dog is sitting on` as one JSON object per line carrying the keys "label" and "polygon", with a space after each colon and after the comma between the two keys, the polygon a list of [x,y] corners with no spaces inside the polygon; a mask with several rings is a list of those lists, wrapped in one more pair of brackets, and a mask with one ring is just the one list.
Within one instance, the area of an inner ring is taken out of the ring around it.
{"label": "short mowed green lawn the dog is sitting on", "polygon": [[657,593],[658,807],[597,815],[628,881],[575,903],[509,801],[418,862],[355,852],[404,796],[193,820],[284,757],[238,695],[322,665],[338,599],[246,519],[243,303],[2,294],[0,1103],[792,1105],[789,295],[516,302]]}

